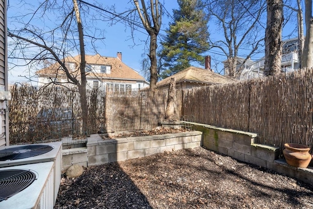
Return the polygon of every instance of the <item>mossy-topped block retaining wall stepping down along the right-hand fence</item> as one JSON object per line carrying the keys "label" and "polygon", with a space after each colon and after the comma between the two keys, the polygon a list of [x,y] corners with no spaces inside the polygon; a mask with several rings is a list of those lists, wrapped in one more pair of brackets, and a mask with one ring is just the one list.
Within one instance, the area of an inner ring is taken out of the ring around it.
{"label": "mossy-topped block retaining wall stepping down along the right-hand fence", "polygon": [[278,159],[280,148],[254,143],[255,133],[184,122],[203,133],[203,147],[228,155],[239,161],[256,164],[313,185],[313,167],[296,168]]}

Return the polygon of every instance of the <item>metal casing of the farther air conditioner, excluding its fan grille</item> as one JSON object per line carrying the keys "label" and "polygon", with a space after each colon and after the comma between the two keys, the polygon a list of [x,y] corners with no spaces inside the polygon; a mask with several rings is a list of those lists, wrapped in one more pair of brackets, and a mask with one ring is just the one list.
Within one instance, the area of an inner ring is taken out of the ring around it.
{"label": "metal casing of the farther air conditioner, excluding its fan grille", "polygon": [[[42,145],[49,145],[52,146],[53,149],[45,154],[37,155],[34,157],[23,158],[18,160],[12,161],[0,161],[0,168],[1,167],[11,167],[15,165],[23,165],[23,164],[32,164],[32,163],[45,163],[45,162],[53,162],[54,163],[54,176],[53,176],[53,201],[55,203],[61,182],[61,169],[62,169],[62,142],[50,142],[50,143],[40,143]],[[12,145],[12,146],[4,146],[0,147],[2,149],[14,148],[23,145]],[[37,144],[38,145],[38,144]]]}

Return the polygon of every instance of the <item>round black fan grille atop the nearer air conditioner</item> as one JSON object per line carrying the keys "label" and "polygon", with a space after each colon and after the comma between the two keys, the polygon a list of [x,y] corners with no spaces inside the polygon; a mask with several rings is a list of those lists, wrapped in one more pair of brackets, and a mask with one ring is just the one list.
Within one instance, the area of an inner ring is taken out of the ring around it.
{"label": "round black fan grille atop the nearer air conditioner", "polygon": [[17,194],[36,179],[30,170],[8,169],[0,171],[0,202]]}

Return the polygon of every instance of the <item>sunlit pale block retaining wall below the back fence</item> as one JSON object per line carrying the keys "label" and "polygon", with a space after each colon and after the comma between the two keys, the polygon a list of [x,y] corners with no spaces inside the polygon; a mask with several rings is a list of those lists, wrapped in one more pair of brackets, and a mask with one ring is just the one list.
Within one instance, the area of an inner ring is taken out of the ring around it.
{"label": "sunlit pale block retaining wall below the back fence", "polygon": [[[86,147],[63,149],[63,170],[72,164],[100,165],[183,148],[195,148],[201,146],[201,139],[200,131],[109,140],[103,140],[98,134],[93,134],[88,138]],[[67,139],[64,146],[71,143],[75,143],[75,140]]]}

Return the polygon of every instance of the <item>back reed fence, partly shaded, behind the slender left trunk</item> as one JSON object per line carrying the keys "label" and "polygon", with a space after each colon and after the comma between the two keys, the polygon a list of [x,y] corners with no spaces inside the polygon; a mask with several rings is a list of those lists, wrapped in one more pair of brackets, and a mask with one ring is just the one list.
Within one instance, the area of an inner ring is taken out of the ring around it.
{"label": "back reed fence, partly shaded, behind the slender left trunk", "polygon": [[[82,113],[75,88],[13,86],[10,91],[11,144],[80,136]],[[110,93],[88,89],[89,133],[154,128],[164,118],[166,99],[167,91]],[[176,111],[178,119],[179,113]]]}

